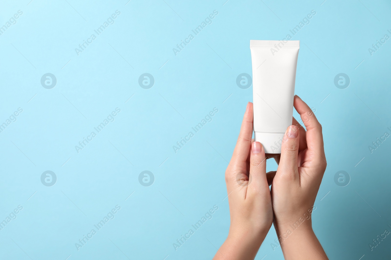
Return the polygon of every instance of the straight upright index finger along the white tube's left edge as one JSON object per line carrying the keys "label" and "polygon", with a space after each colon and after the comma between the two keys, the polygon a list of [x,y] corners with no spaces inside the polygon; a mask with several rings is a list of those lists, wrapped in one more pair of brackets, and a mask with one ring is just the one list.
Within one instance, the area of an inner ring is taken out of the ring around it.
{"label": "straight upright index finger along the white tube's left edge", "polygon": [[230,164],[242,168],[246,166],[246,160],[251,147],[251,137],[253,136],[253,103],[249,102],[244,112],[242,127],[235,149],[231,157]]}

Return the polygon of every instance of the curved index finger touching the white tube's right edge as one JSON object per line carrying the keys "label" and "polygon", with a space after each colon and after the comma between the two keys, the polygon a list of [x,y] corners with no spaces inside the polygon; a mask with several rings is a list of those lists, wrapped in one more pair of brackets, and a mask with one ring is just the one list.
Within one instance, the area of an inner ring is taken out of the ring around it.
{"label": "curved index finger touching the white tube's right edge", "polygon": [[300,97],[294,96],[293,104],[296,111],[300,114],[301,120],[303,120],[305,128],[307,129],[306,141],[308,149],[314,150],[318,157],[320,157],[317,161],[322,160],[325,163],[326,158],[325,150],[323,147],[323,134],[321,124],[319,124],[310,107],[303,100],[301,100]]}

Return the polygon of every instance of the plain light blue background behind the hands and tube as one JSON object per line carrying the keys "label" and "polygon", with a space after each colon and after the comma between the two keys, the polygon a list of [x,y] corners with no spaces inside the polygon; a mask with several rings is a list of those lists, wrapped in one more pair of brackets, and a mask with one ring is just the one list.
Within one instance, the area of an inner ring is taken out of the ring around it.
{"label": "plain light blue background behind the hands and tube", "polygon": [[[23,206],[0,230],[1,259],[211,259],[228,234],[224,171],[252,101],[252,87],[235,83],[252,74],[249,40],[283,39],[311,10],[316,15],[292,39],[301,41],[295,93],[316,109],[328,161],[313,227],[330,259],[389,256],[391,237],[373,251],[369,243],[391,230],[391,140],[368,149],[391,133],[391,40],[368,51],[391,36],[389,2],[110,2],[1,4],[0,26],[23,11],[0,35],[0,124],[23,109],[0,133],[0,221]],[[116,10],[115,23],[78,56],[75,48]],[[174,55],[213,10],[212,24]],[[56,76],[54,88],[41,86],[45,73]],[[152,88],[138,85],[142,73],[154,76]],[[338,73],[348,74],[348,88],[335,87]],[[117,107],[115,121],[77,153]],[[175,153],[172,146],[215,107],[212,122]],[[47,170],[57,175],[54,186],[41,183]],[[152,186],[138,182],[144,170],[154,174]],[[340,170],[348,186],[335,184]],[[77,251],[115,205],[115,218]],[[176,239],[213,205],[213,218],[175,251]],[[271,246],[276,238],[272,227],[256,259],[283,259]]]}

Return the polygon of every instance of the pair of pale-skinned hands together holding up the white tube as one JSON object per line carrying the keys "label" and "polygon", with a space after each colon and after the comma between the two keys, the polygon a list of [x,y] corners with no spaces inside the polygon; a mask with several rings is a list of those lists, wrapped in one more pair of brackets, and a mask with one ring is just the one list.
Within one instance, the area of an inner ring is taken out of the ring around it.
{"label": "pair of pale-skinned hands together holding up the white tube", "polygon": [[[285,259],[328,260],[311,221],[326,170],[322,127],[298,96],[294,97],[294,108],[307,131],[293,119],[285,132],[281,155],[265,154],[262,144],[251,139],[253,104],[248,103],[225,172],[230,231],[214,260],[254,259],[272,223]],[[277,171],[266,173],[266,159],[272,157],[278,163]]]}

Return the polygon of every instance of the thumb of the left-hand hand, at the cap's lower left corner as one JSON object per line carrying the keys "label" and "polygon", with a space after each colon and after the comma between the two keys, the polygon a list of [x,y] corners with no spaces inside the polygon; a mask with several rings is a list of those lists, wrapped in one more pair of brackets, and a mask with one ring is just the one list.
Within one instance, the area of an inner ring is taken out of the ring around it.
{"label": "thumb of the left-hand hand, at the cap's lower left corner", "polygon": [[267,187],[265,149],[260,142],[251,144],[249,186],[247,194],[261,193]]}

